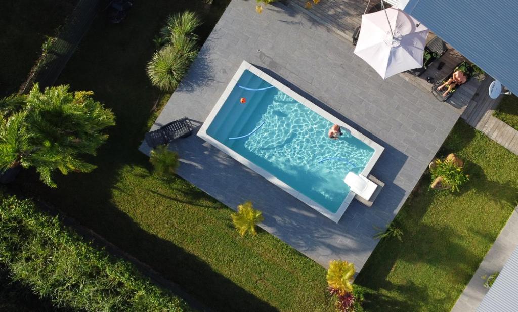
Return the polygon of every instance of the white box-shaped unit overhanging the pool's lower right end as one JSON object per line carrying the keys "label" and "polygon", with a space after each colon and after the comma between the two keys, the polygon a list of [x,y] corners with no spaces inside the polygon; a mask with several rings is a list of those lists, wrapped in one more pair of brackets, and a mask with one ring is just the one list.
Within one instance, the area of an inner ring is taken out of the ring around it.
{"label": "white box-shaped unit overhanging the pool's lower right end", "polygon": [[356,194],[354,198],[369,207],[372,206],[381,188],[385,185],[372,175],[365,177],[353,172],[349,172],[345,179],[343,179],[343,182],[349,185],[351,191]]}

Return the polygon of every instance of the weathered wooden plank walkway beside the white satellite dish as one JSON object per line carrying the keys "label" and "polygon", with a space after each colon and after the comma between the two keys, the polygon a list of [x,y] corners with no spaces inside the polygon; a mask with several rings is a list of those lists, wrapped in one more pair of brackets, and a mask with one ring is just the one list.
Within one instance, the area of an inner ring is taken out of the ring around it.
{"label": "weathered wooden plank walkway beside the white satellite dish", "polygon": [[461,118],[518,155],[518,131],[493,116],[493,112],[502,98],[502,96],[497,99],[489,97],[487,90],[493,81],[494,79],[488,78],[481,84],[477,95],[469,102],[469,106]]}

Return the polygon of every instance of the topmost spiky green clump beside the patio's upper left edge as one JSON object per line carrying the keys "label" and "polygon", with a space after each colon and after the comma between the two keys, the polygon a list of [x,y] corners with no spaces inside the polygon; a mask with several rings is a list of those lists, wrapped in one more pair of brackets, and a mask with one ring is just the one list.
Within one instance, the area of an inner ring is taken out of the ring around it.
{"label": "topmost spiky green clump beside the patio's upper left edge", "polygon": [[160,34],[167,43],[172,45],[176,45],[176,41],[182,38],[196,41],[198,36],[194,34],[194,31],[201,24],[202,22],[194,12],[185,11],[181,14],[172,14],[167,18]]}

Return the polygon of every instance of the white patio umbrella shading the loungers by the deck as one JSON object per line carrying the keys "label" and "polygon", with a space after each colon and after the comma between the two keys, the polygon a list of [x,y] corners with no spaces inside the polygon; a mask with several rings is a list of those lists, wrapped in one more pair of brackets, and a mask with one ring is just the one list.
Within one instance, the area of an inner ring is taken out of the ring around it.
{"label": "white patio umbrella shading the loungers by the deck", "polygon": [[404,11],[387,8],[363,14],[354,54],[363,58],[383,79],[423,66],[428,28]]}

